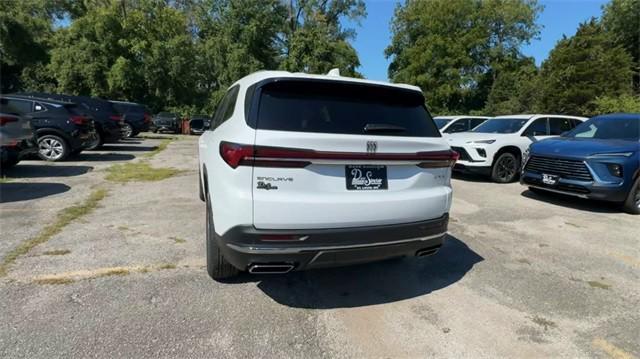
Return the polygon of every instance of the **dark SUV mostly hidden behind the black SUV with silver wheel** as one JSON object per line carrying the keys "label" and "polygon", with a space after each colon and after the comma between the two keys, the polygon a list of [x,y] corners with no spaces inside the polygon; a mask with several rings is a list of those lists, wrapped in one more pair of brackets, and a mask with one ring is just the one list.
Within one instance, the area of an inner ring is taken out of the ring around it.
{"label": "dark SUV mostly hidden behind the black SUV with silver wheel", "polygon": [[88,150],[97,149],[104,143],[118,142],[122,138],[123,117],[115,110],[113,104],[109,101],[87,96],[71,96],[42,92],[20,93],[20,95],[77,104],[80,111],[84,111],[86,115],[93,117],[95,121],[97,140],[87,147]]}

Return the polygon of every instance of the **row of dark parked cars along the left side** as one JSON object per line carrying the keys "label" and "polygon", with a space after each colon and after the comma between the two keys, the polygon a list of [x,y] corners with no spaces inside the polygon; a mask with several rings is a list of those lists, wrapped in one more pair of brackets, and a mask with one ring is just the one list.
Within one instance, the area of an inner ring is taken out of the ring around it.
{"label": "row of dark parked cars along the left side", "polygon": [[37,153],[61,161],[146,131],[144,105],[41,92],[0,95],[2,169]]}

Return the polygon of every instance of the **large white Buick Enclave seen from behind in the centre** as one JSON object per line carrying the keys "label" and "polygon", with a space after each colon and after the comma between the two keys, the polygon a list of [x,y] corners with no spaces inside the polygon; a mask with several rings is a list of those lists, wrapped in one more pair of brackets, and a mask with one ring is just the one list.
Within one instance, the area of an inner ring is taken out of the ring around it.
{"label": "large white Buick Enclave seen from behind in the centre", "polygon": [[447,231],[457,154],[418,87],[257,72],[199,157],[214,279],[430,255]]}

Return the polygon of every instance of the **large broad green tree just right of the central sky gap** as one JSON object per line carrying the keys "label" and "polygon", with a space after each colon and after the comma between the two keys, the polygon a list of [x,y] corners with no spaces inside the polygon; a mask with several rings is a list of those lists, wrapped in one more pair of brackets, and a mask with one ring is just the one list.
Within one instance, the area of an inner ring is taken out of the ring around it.
{"label": "large broad green tree just right of the central sky gap", "polygon": [[408,0],[392,21],[389,77],[420,86],[436,113],[479,110],[540,11],[535,0]]}

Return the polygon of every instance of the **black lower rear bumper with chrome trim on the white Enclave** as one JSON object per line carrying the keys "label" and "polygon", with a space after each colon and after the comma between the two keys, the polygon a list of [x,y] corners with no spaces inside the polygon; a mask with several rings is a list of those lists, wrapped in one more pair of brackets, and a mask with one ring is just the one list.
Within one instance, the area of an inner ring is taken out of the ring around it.
{"label": "black lower rear bumper with chrome trim on the white Enclave", "polygon": [[[259,230],[237,226],[218,238],[224,257],[247,270],[253,264],[292,264],[294,270],[334,267],[414,256],[442,246],[449,223],[440,218],[384,226],[316,230]],[[263,235],[294,235],[299,241],[263,241]]]}

